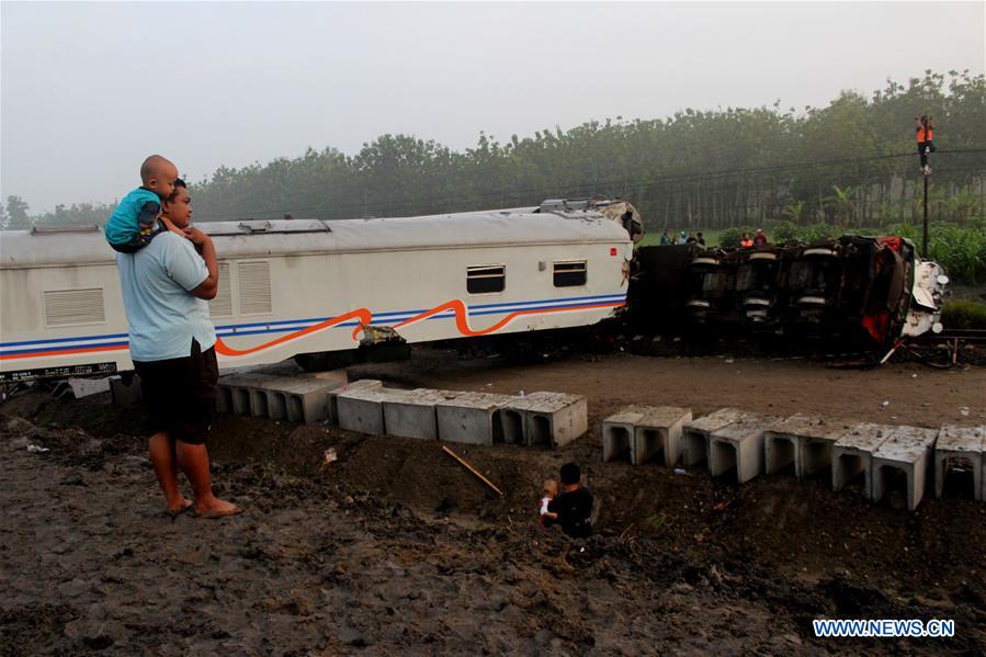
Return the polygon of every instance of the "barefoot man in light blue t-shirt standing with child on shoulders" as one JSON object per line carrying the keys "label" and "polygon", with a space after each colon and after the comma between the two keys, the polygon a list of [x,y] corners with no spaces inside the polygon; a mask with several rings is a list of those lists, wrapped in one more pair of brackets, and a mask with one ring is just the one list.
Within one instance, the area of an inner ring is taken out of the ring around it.
{"label": "barefoot man in light blue t-shirt standing with child on shoulders", "polygon": [[[216,333],[208,303],[219,283],[216,249],[190,227],[191,196],[185,183],[162,200],[169,230],[134,253],[116,253],[123,304],[129,325],[131,358],[150,421],[150,461],[172,518],[192,510],[201,518],[240,512],[212,492],[205,440],[216,397]],[[178,472],[189,478],[195,499],[178,488]]]}

